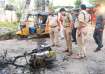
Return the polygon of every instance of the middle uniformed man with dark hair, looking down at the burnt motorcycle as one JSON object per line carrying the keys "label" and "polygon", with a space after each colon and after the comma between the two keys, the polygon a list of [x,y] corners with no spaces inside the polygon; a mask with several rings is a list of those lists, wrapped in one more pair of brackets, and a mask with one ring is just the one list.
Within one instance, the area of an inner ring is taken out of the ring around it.
{"label": "middle uniformed man with dark hair, looking down at the burnt motorcycle", "polygon": [[72,32],[72,16],[70,13],[67,13],[64,8],[60,10],[63,15],[63,27],[64,27],[64,37],[66,41],[66,50],[64,52],[69,52],[69,55],[72,55],[72,41],[71,41],[71,32]]}

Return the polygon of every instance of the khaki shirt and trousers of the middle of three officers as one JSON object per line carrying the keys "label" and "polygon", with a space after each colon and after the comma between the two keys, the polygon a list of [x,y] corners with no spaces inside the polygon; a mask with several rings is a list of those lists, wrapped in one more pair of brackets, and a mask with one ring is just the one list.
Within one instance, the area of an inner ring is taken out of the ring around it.
{"label": "khaki shirt and trousers of the middle of three officers", "polygon": [[72,20],[72,16],[70,14],[66,14],[63,18],[64,37],[66,40],[67,50],[69,50],[69,52],[72,52],[71,20]]}

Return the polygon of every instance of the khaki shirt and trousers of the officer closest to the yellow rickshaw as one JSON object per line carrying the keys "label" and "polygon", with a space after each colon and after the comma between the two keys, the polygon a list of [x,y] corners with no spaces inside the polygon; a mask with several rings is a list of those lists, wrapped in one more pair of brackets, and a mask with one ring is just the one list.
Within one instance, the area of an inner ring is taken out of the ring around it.
{"label": "khaki shirt and trousers of the officer closest to the yellow rickshaw", "polygon": [[52,42],[52,45],[58,45],[59,42],[59,34],[58,34],[58,23],[57,23],[57,16],[49,16],[47,20],[49,26],[50,26],[50,39]]}

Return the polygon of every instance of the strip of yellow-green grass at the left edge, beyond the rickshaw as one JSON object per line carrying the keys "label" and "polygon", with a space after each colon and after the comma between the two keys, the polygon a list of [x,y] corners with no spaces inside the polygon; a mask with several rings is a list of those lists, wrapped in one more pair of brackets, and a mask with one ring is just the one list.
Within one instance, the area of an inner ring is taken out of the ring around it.
{"label": "strip of yellow-green grass at the left edge, beyond the rickshaw", "polygon": [[17,22],[11,23],[11,22],[1,22],[0,21],[0,28],[8,28],[10,30],[16,31],[17,26],[18,26]]}

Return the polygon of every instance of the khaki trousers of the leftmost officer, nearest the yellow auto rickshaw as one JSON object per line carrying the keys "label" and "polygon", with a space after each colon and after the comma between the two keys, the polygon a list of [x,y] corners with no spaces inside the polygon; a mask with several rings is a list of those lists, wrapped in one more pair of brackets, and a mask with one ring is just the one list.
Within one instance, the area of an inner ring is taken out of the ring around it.
{"label": "khaki trousers of the leftmost officer, nearest the yellow auto rickshaw", "polygon": [[58,27],[51,28],[50,30],[50,39],[53,45],[58,45],[59,43],[59,33]]}

